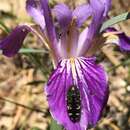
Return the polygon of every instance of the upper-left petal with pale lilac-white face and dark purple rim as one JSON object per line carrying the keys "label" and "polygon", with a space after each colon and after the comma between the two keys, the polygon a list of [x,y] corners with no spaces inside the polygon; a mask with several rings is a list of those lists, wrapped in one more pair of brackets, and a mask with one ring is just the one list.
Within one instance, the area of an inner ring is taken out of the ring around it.
{"label": "upper-left petal with pale lilac-white face and dark purple rim", "polygon": [[41,26],[44,30],[45,19],[43,15],[43,10],[40,8],[40,4],[35,0],[27,0],[26,2],[27,12],[34,18],[34,21]]}

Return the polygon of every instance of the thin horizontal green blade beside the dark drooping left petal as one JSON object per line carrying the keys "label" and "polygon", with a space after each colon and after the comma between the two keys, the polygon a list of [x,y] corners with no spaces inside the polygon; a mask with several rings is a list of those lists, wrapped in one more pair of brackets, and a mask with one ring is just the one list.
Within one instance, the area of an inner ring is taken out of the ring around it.
{"label": "thin horizontal green blade beside the dark drooping left petal", "polygon": [[47,51],[43,49],[22,48],[19,53],[47,53]]}

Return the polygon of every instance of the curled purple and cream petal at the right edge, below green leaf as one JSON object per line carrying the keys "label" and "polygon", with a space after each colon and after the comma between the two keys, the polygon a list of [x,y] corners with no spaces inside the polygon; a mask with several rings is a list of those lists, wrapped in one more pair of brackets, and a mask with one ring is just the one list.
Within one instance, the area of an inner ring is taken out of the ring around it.
{"label": "curled purple and cream petal at the right edge, below green leaf", "polygon": [[[106,32],[109,33],[108,42],[118,45],[122,51],[130,51],[130,37],[124,32],[119,32],[115,28],[108,28]],[[112,35],[117,36],[117,38],[109,41],[109,37]]]}

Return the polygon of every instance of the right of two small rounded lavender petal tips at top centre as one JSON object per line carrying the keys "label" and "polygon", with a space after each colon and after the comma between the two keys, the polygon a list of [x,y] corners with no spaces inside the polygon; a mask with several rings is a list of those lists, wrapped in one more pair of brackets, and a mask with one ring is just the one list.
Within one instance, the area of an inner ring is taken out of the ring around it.
{"label": "right of two small rounded lavender petal tips at top centre", "polygon": [[82,26],[82,24],[91,15],[92,15],[92,8],[90,7],[90,5],[87,4],[80,5],[73,11],[73,17],[76,17],[78,27]]}

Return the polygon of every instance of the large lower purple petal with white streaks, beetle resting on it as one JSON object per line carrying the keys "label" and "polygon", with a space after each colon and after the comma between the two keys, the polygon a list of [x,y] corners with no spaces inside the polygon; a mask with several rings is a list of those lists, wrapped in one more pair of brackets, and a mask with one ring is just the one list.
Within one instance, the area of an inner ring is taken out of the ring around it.
{"label": "large lower purple petal with white streaks, beetle resting on it", "polygon": [[62,60],[46,86],[50,112],[66,130],[95,126],[108,93],[106,73],[95,58]]}

